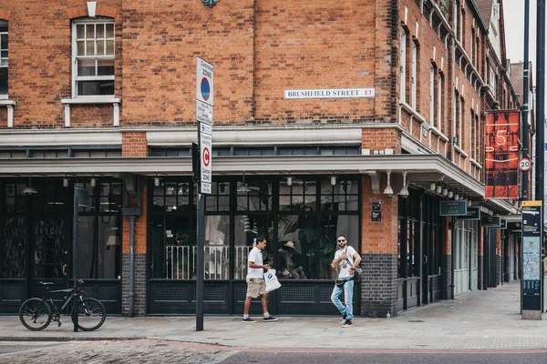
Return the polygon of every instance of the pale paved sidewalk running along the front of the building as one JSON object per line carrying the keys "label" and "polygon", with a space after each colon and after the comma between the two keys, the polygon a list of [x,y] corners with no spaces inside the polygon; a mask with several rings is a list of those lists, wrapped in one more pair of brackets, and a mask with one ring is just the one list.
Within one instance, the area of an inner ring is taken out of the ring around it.
{"label": "pale paved sidewalk running along the front of the building", "polygon": [[242,323],[240,316],[108,317],[92,332],[73,332],[69,317],[42,331],[25,329],[15,316],[0,317],[0,341],[161,340],[243,349],[519,350],[547,349],[547,314],[521,319],[520,282],[470,291],[399,313],[391,319],[355,318],[341,328],[339,317],[279,317]]}

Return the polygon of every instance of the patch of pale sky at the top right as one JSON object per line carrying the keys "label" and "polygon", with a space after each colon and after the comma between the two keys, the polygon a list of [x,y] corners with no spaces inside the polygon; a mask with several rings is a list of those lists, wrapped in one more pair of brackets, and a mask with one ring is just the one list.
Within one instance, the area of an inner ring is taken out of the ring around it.
{"label": "patch of pale sky at the top right", "polygon": [[[530,0],[529,60],[536,63],[536,0]],[[524,0],[503,0],[505,46],[511,63],[524,61]],[[535,78],[535,77],[534,77]]]}

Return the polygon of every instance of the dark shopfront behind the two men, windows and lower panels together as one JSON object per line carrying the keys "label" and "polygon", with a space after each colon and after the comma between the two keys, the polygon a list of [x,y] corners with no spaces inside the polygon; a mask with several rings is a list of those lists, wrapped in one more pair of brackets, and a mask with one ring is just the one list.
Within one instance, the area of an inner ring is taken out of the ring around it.
{"label": "dark shopfront behind the two men, windows and lower panels together", "polygon": [[[149,314],[195,313],[196,201],[191,178],[149,180]],[[359,251],[359,201],[358,176],[215,178],[205,198],[205,313],[243,313],[247,255],[263,236],[264,263],[283,285],[269,311],[336,314],[330,262],[337,234]],[[258,300],[252,310],[261,312]]]}

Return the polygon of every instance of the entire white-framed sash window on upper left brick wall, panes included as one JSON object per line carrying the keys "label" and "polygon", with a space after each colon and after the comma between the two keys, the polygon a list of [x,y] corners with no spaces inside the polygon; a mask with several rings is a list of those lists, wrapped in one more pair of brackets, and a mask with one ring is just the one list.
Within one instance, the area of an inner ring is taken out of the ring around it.
{"label": "entire white-framed sash window on upper left brick wall, panes included", "polygon": [[72,25],[73,96],[114,96],[114,20]]}

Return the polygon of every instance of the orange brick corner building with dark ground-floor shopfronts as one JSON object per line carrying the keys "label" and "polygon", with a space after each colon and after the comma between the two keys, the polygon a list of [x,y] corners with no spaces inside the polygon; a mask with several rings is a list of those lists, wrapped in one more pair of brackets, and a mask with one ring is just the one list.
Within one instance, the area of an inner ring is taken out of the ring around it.
{"label": "orange brick corner building with dark ground-floor shopfronts", "polygon": [[258,235],[276,314],[335,314],[337,234],[363,257],[362,316],[481,288],[500,234],[439,214],[517,212],[483,200],[484,112],[518,101],[477,4],[0,0],[0,311],[69,284],[77,256],[109,312],[194,312],[197,56],[215,78],[206,313],[243,312]]}

